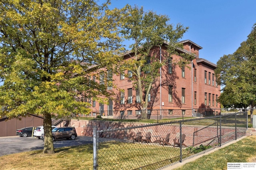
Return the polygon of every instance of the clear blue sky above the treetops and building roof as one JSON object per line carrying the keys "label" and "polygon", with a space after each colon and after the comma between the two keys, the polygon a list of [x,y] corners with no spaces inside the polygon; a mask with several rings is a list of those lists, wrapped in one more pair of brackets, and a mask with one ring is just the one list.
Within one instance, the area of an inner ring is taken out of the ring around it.
{"label": "clear blue sky above the treetops and building roof", "polygon": [[167,15],[169,24],[188,26],[181,40],[203,47],[199,57],[212,63],[232,54],[256,23],[256,0],[112,0],[111,8],[126,4]]}

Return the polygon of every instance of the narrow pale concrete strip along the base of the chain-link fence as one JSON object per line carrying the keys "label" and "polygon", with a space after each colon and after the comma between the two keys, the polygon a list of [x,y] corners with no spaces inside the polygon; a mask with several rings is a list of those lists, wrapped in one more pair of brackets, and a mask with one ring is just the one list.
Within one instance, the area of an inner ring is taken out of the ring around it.
{"label": "narrow pale concrete strip along the base of the chain-link fence", "polygon": [[186,163],[188,163],[188,162],[192,162],[192,161],[194,161],[194,160],[196,160],[196,159],[198,159],[198,158],[200,158],[200,157],[202,157],[202,156],[204,156],[204,155],[208,155],[208,154],[210,154],[210,153],[212,153],[212,152],[215,152],[215,151],[217,151],[217,150],[219,150],[219,149],[221,149],[221,148],[224,148],[224,147],[226,147],[226,146],[228,146],[228,145],[230,145],[230,144],[236,143],[236,142],[238,142],[239,140],[242,140],[242,139],[244,139],[244,138],[246,138],[247,136],[250,136],[250,135],[256,135],[256,128],[248,128],[248,130],[246,131],[246,136],[242,136],[241,138],[238,138],[237,140],[232,140],[231,142],[228,142],[228,143],[222,145],[221,147],[215,148],[215,149],[213,149],[213,150],[211,150],[211,151],[209,151],[209,152],[206,152],[206,153],[204,153],[204,154],[200,154],[200,155],[195,156],[195,157],[193,157],[193,158],[191,158],[191,159],[184,160],[183,162],[174,164],[174,165],[172,165],[172,166],[168,166],[168,167],[163,168],[163,169],[161,169],[161,170],[173,170],[173,169],[175,169],[175,168],[178,168],[178,167],[180,167],[180,166],[183,166],[184,164],[186,164]]}

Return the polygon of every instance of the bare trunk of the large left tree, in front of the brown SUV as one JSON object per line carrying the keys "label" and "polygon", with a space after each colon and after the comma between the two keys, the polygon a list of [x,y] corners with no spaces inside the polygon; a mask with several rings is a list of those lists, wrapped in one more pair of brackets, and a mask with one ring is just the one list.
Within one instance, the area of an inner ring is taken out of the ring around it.
{"label": "bare trunk of the large left tree, in front of the brown SUV", "polygon": [[54,146],[52,140],[52,119],[50,113],[44,114],[44,153],[54,154]]}

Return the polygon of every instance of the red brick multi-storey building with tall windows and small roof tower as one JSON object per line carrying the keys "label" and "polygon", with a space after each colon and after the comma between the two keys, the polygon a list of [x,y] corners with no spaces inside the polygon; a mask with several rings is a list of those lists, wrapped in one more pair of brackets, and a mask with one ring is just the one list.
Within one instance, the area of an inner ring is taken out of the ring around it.
{"label": "red brick multi-storey building with tall windows and small roof tower", "polygon": [[[173,115],[176,111],[178,115],[191,116],[192,113],[185,113],[186,109],[219,109],[220,104],[217,102],[220,96],[220,85],[216,82],[214,69],[216,64],[199,58],[199,50],[202,49],[196,43],[190,40],[180,42],[183,49],[178,49],[180,53],[190,53],[194,55],[194,59],[188,67],[178,67],[178,65],[168,64],[161,68],[161,76],[159,81],[154,83],[150,96],[148,97],[148,114],[156,115],[166,114]],[[164,59],[166,55],[166,45],[162,47],[154,47],[150,56],[161,55]],[[133,53],[128,51],[124,54],[124,59],[132,59]],[[179,59],[180,56],[172,55],[173,60]],[[172,63],[172,61],[169,61]],[[129,75],[128,70],[125,71]],[[99,76],[99,80],[101,81]],[[105,76],[107,77],[107,76]],[[89,116],[108,116],[120,118],[120,115],[126,119],[134,119],[141,114],[138,93],[133,88],[132,82],[124,75],[112,75],[113,83],[116,87],[110,87],[109,90],[116,94],[114,100],[109,100],[108,104],[100,104],[92,101],[92,113]],[[97,80],[96,80],[97,81]],[[122,89],[120,91],[119,89]],[[83,116],[83,115],[82,115]]]}

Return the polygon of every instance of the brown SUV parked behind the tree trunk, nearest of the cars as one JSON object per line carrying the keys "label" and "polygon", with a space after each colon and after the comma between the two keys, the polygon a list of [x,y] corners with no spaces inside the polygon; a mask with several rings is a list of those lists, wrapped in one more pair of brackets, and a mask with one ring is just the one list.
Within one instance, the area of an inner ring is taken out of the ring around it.
{"label": "brown SUV parked behind the tree trunk, nearest of the cars", "polygon": [[[52,140],[56,139],[72,139],[77,137],[75,127],[56,127],[52,129]],[[44,140],[44,134],[42,134],[41,139]]]}

